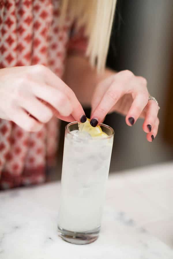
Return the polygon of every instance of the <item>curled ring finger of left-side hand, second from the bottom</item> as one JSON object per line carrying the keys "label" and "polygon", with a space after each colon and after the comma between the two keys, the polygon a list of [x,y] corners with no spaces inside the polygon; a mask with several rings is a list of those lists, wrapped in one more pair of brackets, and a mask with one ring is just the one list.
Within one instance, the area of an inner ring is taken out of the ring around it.
{"label": "curled ring finger of left-side hand, second from the bottom", "polygon": [[25,99],[20,98],[18,104],[42,123],[47,123],[53,116],[51,109],[33,96]]}

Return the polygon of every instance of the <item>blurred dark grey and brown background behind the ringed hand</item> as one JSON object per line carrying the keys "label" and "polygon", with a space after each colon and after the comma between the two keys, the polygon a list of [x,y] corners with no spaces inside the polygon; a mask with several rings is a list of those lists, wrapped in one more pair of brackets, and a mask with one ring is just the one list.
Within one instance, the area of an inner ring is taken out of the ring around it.
{"label": "blurred dark grey and brown background behind the ringed hand", "polygon": [[[146,140],[142,120],[128,127],[119,114],[105,123],[115,130],[110,172],[173,160],[173,2],[172,0],[118,0],[107,66],[129,69],[144,76],[161,107],[159,133]],[[86,110],[90,117],[90,110]],[[58,160],[62,165],[65,123],[61,125]]]}

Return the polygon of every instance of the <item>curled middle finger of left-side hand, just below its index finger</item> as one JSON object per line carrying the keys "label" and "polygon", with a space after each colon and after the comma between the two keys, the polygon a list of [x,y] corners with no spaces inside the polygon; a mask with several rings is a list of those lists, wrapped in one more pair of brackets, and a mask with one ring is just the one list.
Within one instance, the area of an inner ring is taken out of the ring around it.
{"label": "curled middle finger of left-side hand, just below its index finger", "polygon": [[32,93],[52,105],[62,116],[69,116],[72,113],[72,105],[65,94],[58,89],[45,84],[31,83]]}

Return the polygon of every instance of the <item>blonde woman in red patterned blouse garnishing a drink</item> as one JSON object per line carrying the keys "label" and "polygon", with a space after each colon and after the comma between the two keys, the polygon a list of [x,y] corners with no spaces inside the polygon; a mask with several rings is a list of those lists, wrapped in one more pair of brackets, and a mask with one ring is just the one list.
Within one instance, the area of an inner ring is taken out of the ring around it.
{"label": "blonde woman in red patterned blouse garnishing a drink", "polygon": [[91,105],[93,127],[116,111],[129,126],[144,118],[147,140],[155,138],[159,106],[149,98],[146,79],[104,68],[115,5],[116,0],[0,2],[1,189],[45,180],[59,119],[85,122],[82,105]]}

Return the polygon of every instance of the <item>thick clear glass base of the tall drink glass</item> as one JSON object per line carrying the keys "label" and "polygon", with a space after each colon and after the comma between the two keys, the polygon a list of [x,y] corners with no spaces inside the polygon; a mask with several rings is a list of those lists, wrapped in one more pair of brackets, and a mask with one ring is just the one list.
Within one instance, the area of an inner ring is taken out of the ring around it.
{"label": "thick clear glass base of the tall drink glass", "polygon": [[98,238],[100,226],[92,229],[91,231],[85,232],[68,231],[58,226],[58,232],[59,236],[69,243],[76,245],[86,245],[94,242]]}

